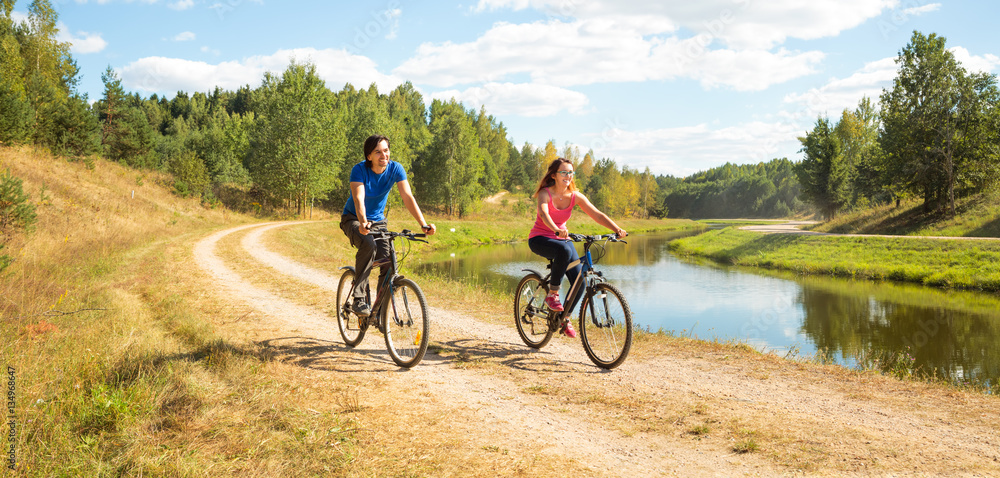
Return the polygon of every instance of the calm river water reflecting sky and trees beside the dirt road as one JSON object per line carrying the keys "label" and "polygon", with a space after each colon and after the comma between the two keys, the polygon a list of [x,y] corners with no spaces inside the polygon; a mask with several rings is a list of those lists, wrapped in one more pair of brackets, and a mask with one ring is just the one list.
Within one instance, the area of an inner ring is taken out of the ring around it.
{"label": "calm river water reflecting sky and trees beside the dirt road", "polygon": [[[678,259],[673,233],[608,244],[598,269],[622,289],[634,322],[700,338],[735,339],[845,365],[864,354],[910,354],[938,376],[996,383],[1000,300],[990,294],[727,268]],[[600,251],[595,248],[595,250]],[[481,246],[425,258],[422,272],[513,291],[522,269],[544,270],[526,244]]]}

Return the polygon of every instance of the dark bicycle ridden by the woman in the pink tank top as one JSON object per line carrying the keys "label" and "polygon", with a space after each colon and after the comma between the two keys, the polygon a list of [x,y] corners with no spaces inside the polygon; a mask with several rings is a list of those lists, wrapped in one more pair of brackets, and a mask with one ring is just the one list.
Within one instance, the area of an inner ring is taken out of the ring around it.
{"label": "dark bicycle ridden by the woman in the pink tank top", "polygon": [[[573,304],[583,296],[580,301],[583,349],[598,367],[613,369],[625,361],[632,348],[632,310],[621,291],[605,282],[604,275],[594,270],[594,265],[604,257],[604,244],[625,241],[616,234],[587,236],[571,233],[569,238],[584,245],[583,256],[579,260],[582,266],[580,275],[570,286],[564,303]],[[599,244],[601,253],[594,257],[590,248],[598,241],[604,243]],[[576,264],[577,261],[574,261],[569,267]],[[552,268],[551,261],[546,268]],[[514,292],[514,322],[521,340],[528,347],[540,349],[549,343],[552,334],[562,328],[564,321],[570,320],[572,310],[555,311],[545,305],[551,272],[542,277],[533,269],[522,270],[528,274],[517,284]]]}

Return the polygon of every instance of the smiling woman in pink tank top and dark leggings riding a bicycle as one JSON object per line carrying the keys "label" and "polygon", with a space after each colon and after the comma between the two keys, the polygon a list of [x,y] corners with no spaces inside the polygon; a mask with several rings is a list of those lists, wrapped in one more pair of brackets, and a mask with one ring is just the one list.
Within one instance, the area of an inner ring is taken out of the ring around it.
{"label": "smiling woman in pink tank top and dark leggings riding a bicycle", "polygon": [[[627,235],[624,229],[618,227],[607,214],[599,211],[586,196],[576,190],[573,175],[573,163],[566,158],[558,158],[549,164],[534,194],[538,203],[537,215],[535,225],[528,234],[528,247],[531,252],[552,261],[549,294],[545,297],[545,304],[552,310],[563,310],[563,305],[559,302],[559,286],[563,275],[569,279],[571,287],[580,275],[579,264],[567,270],[570,263],[580,258],[576,246],[569,240],[569,230],[566,228],[566,222],[573,214],[573,207],[579,205],[591,219],[611,229],[619,237]],[[569,307],[572,309],[573,304],[569,304]],[[568,320],[563,323],[562,332],[576,337],[576,331]]]}

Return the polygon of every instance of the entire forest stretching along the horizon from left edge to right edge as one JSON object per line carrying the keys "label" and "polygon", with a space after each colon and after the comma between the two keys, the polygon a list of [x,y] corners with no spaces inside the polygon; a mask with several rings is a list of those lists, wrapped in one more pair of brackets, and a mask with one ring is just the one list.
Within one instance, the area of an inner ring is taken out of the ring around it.
{"label": "entire forest stretching along the horizon from left edge to right edge", "polygon": [[638,218],[831,218],[906,198],[954,214],[956,197],[995,186],[1000,169],[996,77],[967,72],[934,34],[914,32],[877,104],[862,98],[836,122],[817,118],[798,138],[800,161],[727,163],[676,178],[554,139],[517,146],[485,107],[427,105],[409,82],[388,92],[375,84],[334,91],[308,62],[265,73],[255,87],[169,99],[126,91],[109,66],[102,96],[91,100],[76,90],[79,71],[70,45],[57,40],[52,4],[32,1],[20,23],[13,4],[0,3],[0,144],[164,171],[177,194],[238,210],[337,211],[363,140],[375,133],[391,139],[392,159],[421,204],[456,217],[499,191],[528,197],[560,156],[576,165],[577,186],[599,209]]}

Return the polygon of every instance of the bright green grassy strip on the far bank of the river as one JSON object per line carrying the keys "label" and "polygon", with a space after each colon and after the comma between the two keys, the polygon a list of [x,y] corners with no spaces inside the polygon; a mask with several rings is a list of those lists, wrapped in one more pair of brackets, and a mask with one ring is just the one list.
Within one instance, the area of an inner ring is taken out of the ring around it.
{"label": "bright green grassy strip on the far bank of the river", "polygon": [[762,234],[728,227],[674,240],[670,247],[738,266],[1000,291],[1000,240]]}

